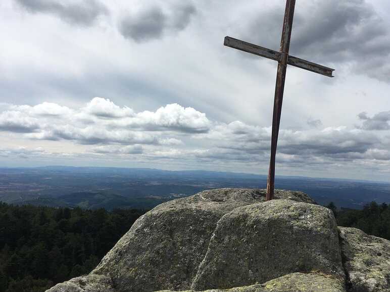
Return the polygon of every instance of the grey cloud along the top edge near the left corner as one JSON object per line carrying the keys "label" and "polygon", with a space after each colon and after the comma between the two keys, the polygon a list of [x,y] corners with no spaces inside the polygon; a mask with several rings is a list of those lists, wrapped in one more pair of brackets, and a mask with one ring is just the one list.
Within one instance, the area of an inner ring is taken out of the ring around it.
{"label": "grey cloud along the top edge near the left corner", "polygon": [[99,16],[108,14],[107,8],[96,0],[82,0],[78,3],[59,0],[15,1],[33,13],[50,13],[78,25],[91,25]]}

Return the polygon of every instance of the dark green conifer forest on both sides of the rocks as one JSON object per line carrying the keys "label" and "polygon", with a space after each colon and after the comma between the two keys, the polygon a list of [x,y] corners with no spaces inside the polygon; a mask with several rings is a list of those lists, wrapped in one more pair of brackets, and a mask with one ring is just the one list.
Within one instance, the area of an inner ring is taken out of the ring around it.
{"label": "dark green conifer forest on both sides of the rocks", "polygon": [[[327,205],[339,226],[390,240],[390,207]],[[89,273],[145,210],[52,208],[0,203],[0,292],[41,292]]]}

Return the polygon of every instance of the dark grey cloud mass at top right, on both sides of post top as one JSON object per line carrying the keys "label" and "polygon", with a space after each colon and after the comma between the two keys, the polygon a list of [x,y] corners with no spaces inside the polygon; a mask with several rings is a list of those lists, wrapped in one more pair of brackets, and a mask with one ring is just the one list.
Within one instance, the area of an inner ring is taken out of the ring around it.
{"label": "dark grey cloud mass at top right, on both sides of post top", "polygon": [[[283,12],[281,6],[261,12],[243,27],[242,36],[277,49]],[[315,0],[297,6],[290,53],[325,66],[353,63],[355,72],[390,82],[390,28],[365,0]]]}

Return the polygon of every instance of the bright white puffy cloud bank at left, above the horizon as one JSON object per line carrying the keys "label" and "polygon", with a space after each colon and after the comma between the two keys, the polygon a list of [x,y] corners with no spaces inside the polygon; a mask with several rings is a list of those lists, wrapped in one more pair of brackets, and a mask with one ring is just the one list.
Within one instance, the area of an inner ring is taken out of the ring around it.
{"label": "bright white puffy cloud bank at left, above the horizon", "polygon": [[206,133],[211,127],[205,113],[176,103],[138,113],[101,97],[79,109],[48,102],[8,108],[12,110],[0,113],[0,131],[25,133],[28,139],[70,140],[82,145],[182,145],[178,133]]}

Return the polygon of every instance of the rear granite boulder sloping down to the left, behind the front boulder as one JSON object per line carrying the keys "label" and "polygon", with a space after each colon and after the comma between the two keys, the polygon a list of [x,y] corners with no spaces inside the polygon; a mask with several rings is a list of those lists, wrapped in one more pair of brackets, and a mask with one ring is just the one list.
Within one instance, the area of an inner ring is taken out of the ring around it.
{"label": "rear granite boulder sloping down to the left, behind the front boulder", "polygon": [[[92,271],[112,277],[119,291],[189,289],[218,220],[265,201],[265,190],[217,189],[163,203],[144,214]],[[276,198],[314,201],[277,190]]]}

